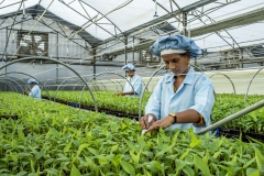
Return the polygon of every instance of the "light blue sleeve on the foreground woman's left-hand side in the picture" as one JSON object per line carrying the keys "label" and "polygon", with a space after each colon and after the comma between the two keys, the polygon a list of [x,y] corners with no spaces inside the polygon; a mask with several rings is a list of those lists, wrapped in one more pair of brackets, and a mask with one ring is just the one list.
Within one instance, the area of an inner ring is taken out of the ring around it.
{"label": "light blue sleeve on the foreground woman's left-hand side in the picture", "polygon": [[150,97],[145,106],[145,114],[153,113],[155,114],[157,120],[161,119],[162,84],[163,84],[163,79],[160,79],[157,82],[157,86],[155,87],[152,96]]}

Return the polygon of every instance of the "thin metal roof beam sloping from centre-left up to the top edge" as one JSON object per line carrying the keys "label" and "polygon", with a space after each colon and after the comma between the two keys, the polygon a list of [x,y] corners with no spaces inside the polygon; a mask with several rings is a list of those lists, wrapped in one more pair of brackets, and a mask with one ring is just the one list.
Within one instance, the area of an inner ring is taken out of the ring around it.
{"label": "thin metal roof beam sloping from centre-left up to the top edge", "polygon": [[133,29],[131,29],[131,30],[128,30],[128,31],[123,32],[122,34],[118,34],[118,35],[114,36],[114,37],[109,37],[108,40],[105,40],[105,41],[98,43],[98,45],[106,44],[106,43],[108,43],[108,42],[111,42],[111,41],[117,40],[118,37],[123,37],[124,35],[130,35],[130,34],[133,33],[133,32],[143,30],[143,29],[145,29],[145,28],[147,28],[147,26],[151,26],[151,25],[157,24],[157,23],[160,23],[160,22],[163,22],[163,21],[165,21],[165,20],[172,19],[173,16],[178,15],[178,14],[182,13],[182,12],[189,12],[189,11],[191,11],[191,10],[195,10],[195,9],[197,9],[197,8],[199,8],[199,7],[204,7],[204,6],[208,4],[208,3],[212,3],[212,2],[215,2],[215,1],[217,1],[217,0],[200,0],[200,1],[198,1],[198,2],[191,3],[191,4],[183,8],[182,11],[180,11],[180,10],[175,10],[175,11],[172,12],[172,13],[167,13],[167,14],[161,16],[161,18],[157,18],[157,19],[155,19],[155,20],[152,20],[152,21],[150,21],[150,22],[146,22],[146,23],[144,23],[144,24],[141,24],[141,25],[139,25],[139,26],[135,26],[135,28],[133,28]]}

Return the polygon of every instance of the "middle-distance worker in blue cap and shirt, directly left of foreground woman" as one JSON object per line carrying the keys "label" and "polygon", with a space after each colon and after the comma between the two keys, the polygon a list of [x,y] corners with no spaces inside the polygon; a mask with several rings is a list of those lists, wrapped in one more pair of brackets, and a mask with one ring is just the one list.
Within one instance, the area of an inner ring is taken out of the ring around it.
{"label": "middle-distance worker in blue cap and shirt, directly left of foreground woman", "polygon": [[118,92],[116,95],[125,97],[140,97],[142,94],[143,81],[141,77],[135,74],[135,66],[128,64],[123,66],[122,69],[125,70],[128,79],[125,81],[123,92]]}

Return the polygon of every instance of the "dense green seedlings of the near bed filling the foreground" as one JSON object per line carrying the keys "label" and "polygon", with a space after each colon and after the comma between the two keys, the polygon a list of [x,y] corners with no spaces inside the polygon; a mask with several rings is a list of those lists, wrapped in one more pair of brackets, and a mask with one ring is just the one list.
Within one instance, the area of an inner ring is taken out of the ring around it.
{"label": "dense green seedlings of the near bed filling the foreground", "polygon": [[162,130],[0,92],[0,175],[262,175],[264,144]]}

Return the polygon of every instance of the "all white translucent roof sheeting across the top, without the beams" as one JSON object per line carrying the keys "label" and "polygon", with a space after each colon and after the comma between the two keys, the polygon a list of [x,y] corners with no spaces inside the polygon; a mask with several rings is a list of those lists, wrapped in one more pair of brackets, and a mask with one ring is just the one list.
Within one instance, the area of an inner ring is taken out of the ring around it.
{"label": "all white translucent roof sheeting across the top, without the beams", "polygon": [[[209,2],[210,0],[200,1]],[[21,2],[21,0],[0,1],[0,18],[13,15],[18,11],[21,14],[23,11]],[[158,18],[172,11],[182,10],[195,2],[199,1],[157,0]],[[263,0],[211,0],[210,2],[188,13],[187,30],[199,29],[264,8]],[[38,15],[46,9],[46,18],[57,19],[62,24],[68,25],[69,29],[81,30],[81,28],[85,28],[82,29],[85,33],[82,31],[80,34],[84,35],[84,38],[90,40],[90,43],[94,40],[95,45],[98,41],[101,42],[122,34],[155,19],[153,16],[155,1],[153,0],[24,0],[24,7],[28,9],[25,10],[26,13],[29,9],[35,7]],[[183,30],[183,24],[176,20],[177,18],[183,19],[182,15],[176,15],[167,19],[167,22],[175,30]],[[96,21],[97,25],[91,23],[91,19],[94,22]],[[221,30],[218,33],[206,33],[194,38],[201,48],[208,48],[209,52],[222,51],[264,43],[263,29],[264,22],[261,21],[244,26]],[[95,42],[96,40],[98,41]]]}

